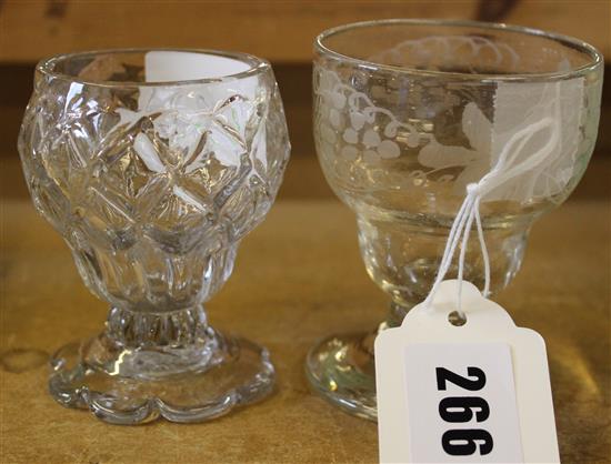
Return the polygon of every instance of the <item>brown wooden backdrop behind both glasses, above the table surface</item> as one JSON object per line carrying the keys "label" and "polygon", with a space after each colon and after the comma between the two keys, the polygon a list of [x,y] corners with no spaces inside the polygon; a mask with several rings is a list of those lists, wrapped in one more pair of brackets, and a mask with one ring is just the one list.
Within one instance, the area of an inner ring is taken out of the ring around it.
{"label": "brown wooden backdrop behind both glasses, above the table surface", "polygon": [[[311,135],[312,40],[327,28],[379,18],[463,18],[528,26],[578,37],[611,57],[609,0],[0,0],[2,194],[26,195],[16,138],[38,60],[101,48],[184,47],[244,51],[272,61],[293,147],[282,194],[330,195],[314,160]],[[608,192],[603,178],[611,168],[611,157],[604,157],[611,152],[610,93],[603,92],[595,153],[602,167],[591,170],[595,179],[581,186],[597,194]]]}

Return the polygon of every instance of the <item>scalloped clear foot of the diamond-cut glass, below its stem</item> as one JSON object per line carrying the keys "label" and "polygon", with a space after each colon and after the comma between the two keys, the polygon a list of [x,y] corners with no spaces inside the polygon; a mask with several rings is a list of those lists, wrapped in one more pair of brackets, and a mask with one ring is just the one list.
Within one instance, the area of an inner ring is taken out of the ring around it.
{"label": "scalloped clear foot of the diamond-cut glass, below its stem", "polygon": [[[270,394],[274,369],[269,352],[240,337],[212,334],[189,347],[189,353],[184,349],[118,350],[104,334],[66,345],[51,359],[49,391],[63,406],[89,408],[113,424],[158,417],[203,422]],[[159,369],[163,359],[187,362],[177,370],[174,361],[172,371],[163,373]]]}

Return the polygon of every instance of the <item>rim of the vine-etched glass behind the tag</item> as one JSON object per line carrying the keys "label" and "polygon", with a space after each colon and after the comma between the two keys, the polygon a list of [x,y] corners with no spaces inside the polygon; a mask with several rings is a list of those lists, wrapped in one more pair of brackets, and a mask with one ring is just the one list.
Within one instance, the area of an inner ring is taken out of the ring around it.
{"label": "rim of the vine-etched glass behind the tag", "polygon": [[[565,71],[551,71],[551,72],[532,72],[532,73],[515,73],[515,74],[494,74],[494,73],[468,73],[457,71],[435,71],[435,70],[422,70],[412,67],[399,67],[393,64],[383,64],[375,61],[369,61],[360,58],[350,57],[338,51],[334,51],[327,46],[323,41],[331,36],[342,33],[349,30],[359,28],[370,28],[375,26],[440,26],[440,27],[471,27],[482,30],[503,30],[510,32],[522,33],[527,36],[534,36],[539,38],[545,38],[554,40],[557,42],[572,47],[590,57],[590,61],[583,65]],[[571,36],[564,36],[555,32],[548,32],[541,29],[528,28],[523,26],[505,24],[501,22],[485,22],[485,21],[472,21],[472,20],[453,20],[453,19],[381,19],[370,21],[351,22],[348,24],[338,26],[327,29],[319,33],[314,39],[314,51],[321,56],[351,62],[358,67],[377,70],[388,70],[393,72],[431,75],[431,77],[453,77],[463,80],[478,80],[478,81],[557,81],[563,79],[571,79],[587,74],[594,71],[598,67],[601,67],[604,62],[602,53],[593,46],[577,39]]]}

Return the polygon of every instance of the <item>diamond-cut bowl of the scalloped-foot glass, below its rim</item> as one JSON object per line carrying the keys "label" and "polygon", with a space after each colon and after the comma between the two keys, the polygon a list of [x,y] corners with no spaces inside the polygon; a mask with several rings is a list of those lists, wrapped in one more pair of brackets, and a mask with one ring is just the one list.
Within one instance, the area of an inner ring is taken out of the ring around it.
{"label": "diamond-cut bowl of the scalloped-foot glass, below its rim", "polygon": [[[290,150],[273,79],[258,79],[244,97],[37,77],[19,139],[27,181],[93,293],[116,306],[174,310],[229,278]],[[154,105],[133,111],[142,101]]]}

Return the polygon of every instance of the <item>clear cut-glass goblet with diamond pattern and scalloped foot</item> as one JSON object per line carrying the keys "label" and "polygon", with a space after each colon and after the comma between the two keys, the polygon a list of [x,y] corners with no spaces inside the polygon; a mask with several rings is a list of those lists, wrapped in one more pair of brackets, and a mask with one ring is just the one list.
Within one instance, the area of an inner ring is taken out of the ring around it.
{"label": "clear cut-glass goblet with diamond pattern and scalloped foot", "polygon": [[212,329],[203,304],[273,203],[290,145],[267,61],[113,50],[36,70],[19,152],[104,330],[53,356],[51,395],[111,423],[197,422],[273,389],[269,353]]}

